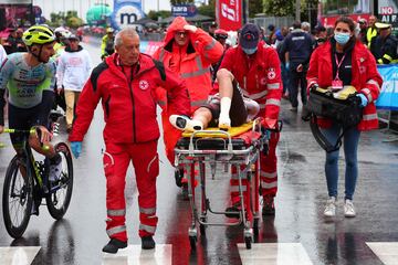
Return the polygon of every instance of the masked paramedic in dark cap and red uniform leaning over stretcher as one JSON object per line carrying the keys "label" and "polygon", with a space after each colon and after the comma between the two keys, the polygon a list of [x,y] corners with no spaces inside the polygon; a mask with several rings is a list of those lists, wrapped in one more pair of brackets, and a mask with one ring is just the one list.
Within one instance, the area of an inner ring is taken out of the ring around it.
{"label": "masked paramedic in dark cap and red uniform leaning over stretcher", "polygon": [[[239,36],[239,45],[229,49],[217,78],[230,78],[238,82],[243,95],[260,104],[259,117],[277,120],[282,97],[281,65],[276,51],[259,43],[260,29],[255,24],[245,24]],[[232,75],[226,74],[231,72]],[[221,103],[222,104],[222,103]],[[277,190],[276,144],[280,134],[271,132],[269,153],[261,155],[261,193],[263,195],[263,215],[274,215],[274,197]],[[231,199],[232,206],[227,211],[239,209],[237,169],[232,168]]]}

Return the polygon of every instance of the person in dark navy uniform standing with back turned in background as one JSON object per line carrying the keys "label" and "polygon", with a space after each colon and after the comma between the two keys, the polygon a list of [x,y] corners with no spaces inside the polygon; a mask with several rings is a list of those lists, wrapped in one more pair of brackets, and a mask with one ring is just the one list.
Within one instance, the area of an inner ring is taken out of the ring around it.
{"label": "person in dark navy uniform standing with back turned in background", "polygon": [[292,104],[292,112],[297,112],[298,86],[301,87],[301,99],[303,106],[306,104],[306,72],[310,56],[313,50],[313,40],[308,33],[301,29],[300,21],[293,23],[293,31],[286,36],[283,45],[285,54],[285,67],[290,73],[289,95]]}

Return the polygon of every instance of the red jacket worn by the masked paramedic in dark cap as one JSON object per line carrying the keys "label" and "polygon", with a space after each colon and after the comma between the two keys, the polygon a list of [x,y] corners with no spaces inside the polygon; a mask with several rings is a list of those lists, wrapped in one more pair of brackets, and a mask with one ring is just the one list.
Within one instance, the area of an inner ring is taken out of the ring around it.
{"label": "red jacket worn by the masked paramedic in dark cap", "polygon": [[260,104],[261,116],[277,119],[282,81],[281,63],[273,47],[259,43],[252,56],[248,56],[239,45],[231,47],[227,50],[220,68],[230,71],[243,94]]}

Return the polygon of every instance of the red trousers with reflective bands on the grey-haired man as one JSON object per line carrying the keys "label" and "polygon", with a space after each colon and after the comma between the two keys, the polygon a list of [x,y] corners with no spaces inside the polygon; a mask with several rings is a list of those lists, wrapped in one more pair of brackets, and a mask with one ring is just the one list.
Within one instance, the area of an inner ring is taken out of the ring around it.
{"label": "red trousers with reflective bands on the grey-haired man", "polygon": [[[159,174],[157,140],[144,144],[106,142],[103,162],[106,177],[106,233],[111,239],[127,242],[125,224],[126,171],[133,161],[139,205],[139,236],[156,231],[156,178]],[[128,191],[127,191],[128,192]]]}

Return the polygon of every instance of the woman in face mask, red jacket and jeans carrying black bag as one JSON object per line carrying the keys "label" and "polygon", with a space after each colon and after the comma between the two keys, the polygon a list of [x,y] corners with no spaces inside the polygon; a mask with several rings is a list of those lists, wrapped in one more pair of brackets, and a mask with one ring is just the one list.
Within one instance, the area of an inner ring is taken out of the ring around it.
{"label": "woman in face mask, red jacket and jeans carrying black bag", "polygon": [[[359,135],[363,130],[378,128],[375,100],[377,99],[383,80],[377,72],[375,59],[370,52],[355,38],[355,24],[349,18],[341,18],[335,23],[334,38],[315,50],[311,56],[307,74],[308,91],[316,87],[342,89],[352,85],[357,91],[364,107],[363,119],[355,127],[344,128],[345,197],[344,214],[354,218],[356,211],[353,197],[358,177],[357,149]],[[334,120],[320,117],[318,125],[329,142],[336,142],[343,127]],[[336,214],[338,150],[326,152],[325,174],[328,200],[324,210],[325,216]]]}

